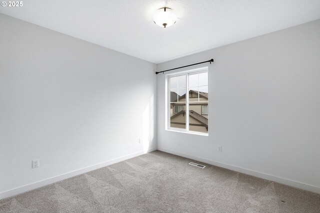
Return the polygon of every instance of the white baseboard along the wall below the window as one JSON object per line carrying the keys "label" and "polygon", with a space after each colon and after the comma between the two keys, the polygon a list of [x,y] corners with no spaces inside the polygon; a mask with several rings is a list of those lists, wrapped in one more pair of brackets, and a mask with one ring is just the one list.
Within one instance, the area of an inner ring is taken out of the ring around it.
{"label": "white baseboard along the wall below the window", "polygon": [[222,162],[218,162],[218,161],[214,161],[214,160],[210,160],[210,159],[206,159],[206,158],[202,158],[202,157],[198,157],[198,156],[194,156],[191,154],[187,154],[187,153],[183,153],[183,152],[179,152],[179,151],[174,151],[174,150],[170,150],[170,149],[166,149],[166,148],[162,148],[162,147],[157,147],[158,150],[160,151],[164,151],[167,153],[171,153],[171,154],[175,154],[178,156],[182,156],[182,157],[186,157],[186,158],[190,158],[190,159],[194,159],[194,160],[198,160],[201,162],[205,162],[211,165],[216,165],[222,168],[227,168],[233,171],[238,171],[241,173],[245,173],[245,174],[249,174],[252,176],[256,176],[256,177],[260,177],[263,179],[267,179],[267,180],[271,180],[274,182],[278,182],[284,185],[289,185],[292,187],[296,187],[296,188],[300,188],[300,189],[304,189],[307,191],[312,191],[315,193],[320,193],[320,187],[314,186],[314,185],[309,185],[309,184],[305,184],[302,182],[298,182],[298,181],[294,181],[294,180],[290,180],[290,179],[285,179],[283,177],[278,177],[278,176],[273,176],[270,174],[266,174],[263,172],[259,172],[259,171],[254,171],[254,170],[250,170],[247,168],[243,168],[243,167],[239,167],[239,166],[235,166],[235,165],[230,165],[230,164],[226,164],[226,163],[222,163]]}

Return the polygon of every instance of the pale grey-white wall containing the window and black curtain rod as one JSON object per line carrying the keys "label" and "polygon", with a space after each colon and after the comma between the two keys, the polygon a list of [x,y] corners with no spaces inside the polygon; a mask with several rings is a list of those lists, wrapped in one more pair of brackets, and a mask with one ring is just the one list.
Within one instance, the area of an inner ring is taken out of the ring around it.
{"label": "pale grey-white wall containing the window and black curtain rod", "polygon": [[320,193],[320,20],[157,70],[212,57],[209,136],[164,130],[165,74],[157,75],[158,149]]}

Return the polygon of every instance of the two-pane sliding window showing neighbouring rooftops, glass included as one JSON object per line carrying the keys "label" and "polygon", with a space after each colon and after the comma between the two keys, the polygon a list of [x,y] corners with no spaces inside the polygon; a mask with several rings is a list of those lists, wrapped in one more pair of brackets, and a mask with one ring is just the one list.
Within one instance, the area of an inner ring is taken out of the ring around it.
{"label": "two-pane sliding window showing neighbouring rooftops, glass included", "polygon": [[207,67],[168,74],[167,129],[208,133]]}

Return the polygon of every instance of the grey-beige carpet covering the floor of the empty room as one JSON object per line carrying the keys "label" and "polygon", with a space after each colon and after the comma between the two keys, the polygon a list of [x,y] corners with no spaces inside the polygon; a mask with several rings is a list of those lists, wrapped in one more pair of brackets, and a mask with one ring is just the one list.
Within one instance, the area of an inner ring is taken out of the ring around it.
{"label": "grey-beige carpet covering the floor of the empty room", "polygon": [[190,161],[153,151],[2,199],[0,212],[320,212],[320,194]]}

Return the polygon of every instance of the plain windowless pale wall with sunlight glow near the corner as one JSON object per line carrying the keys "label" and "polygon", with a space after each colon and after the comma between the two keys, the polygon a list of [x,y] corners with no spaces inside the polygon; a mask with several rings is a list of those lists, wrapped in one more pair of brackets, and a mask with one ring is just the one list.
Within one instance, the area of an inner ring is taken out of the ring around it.
{"label": "plain windowless pale wall with sunlight glow near the corner", "polygon": [[0,13],[0,198],[156,149],[155,102],[153,63]]}

